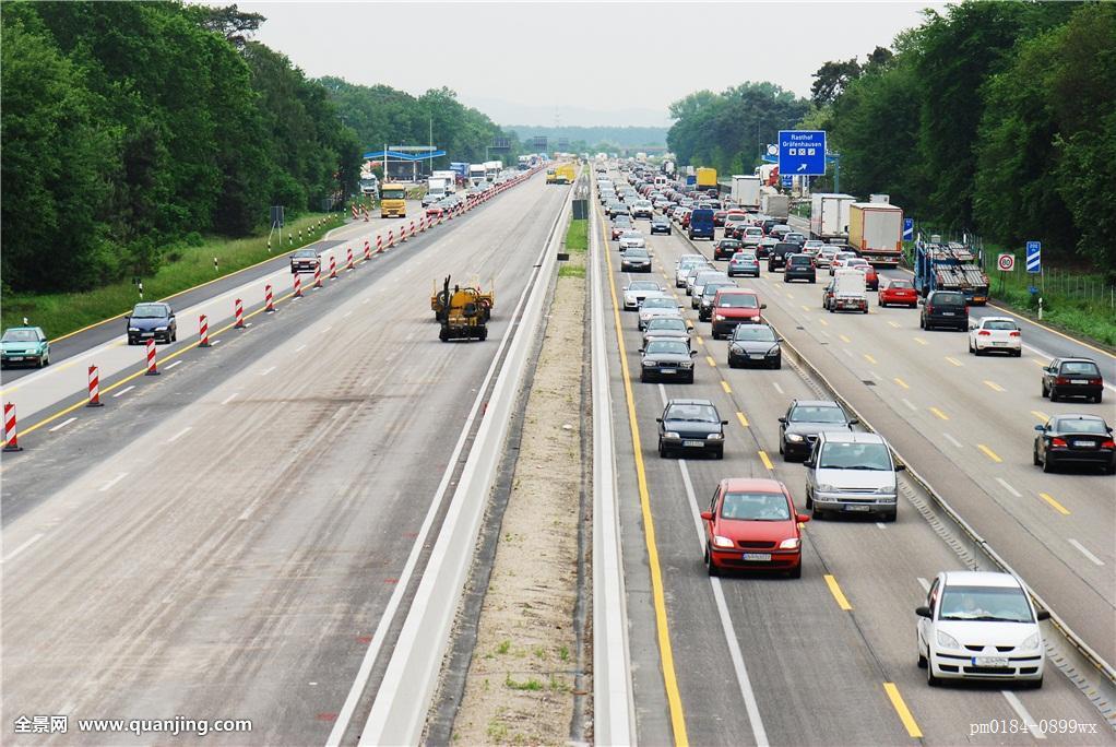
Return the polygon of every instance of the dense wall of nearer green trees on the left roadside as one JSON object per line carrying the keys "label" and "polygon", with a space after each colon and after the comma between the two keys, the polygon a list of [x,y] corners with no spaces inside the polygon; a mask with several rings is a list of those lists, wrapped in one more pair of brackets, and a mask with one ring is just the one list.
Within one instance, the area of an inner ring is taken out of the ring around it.
{"label": "dense wall of nearer green trees on the left roadside", "polygon": [[[173,245],[244,236],[354,183],[358,146],[235,7],[8,2],[3,282],[77,290],[153,274]],[[49,257],[50,261],[45,261]]]}

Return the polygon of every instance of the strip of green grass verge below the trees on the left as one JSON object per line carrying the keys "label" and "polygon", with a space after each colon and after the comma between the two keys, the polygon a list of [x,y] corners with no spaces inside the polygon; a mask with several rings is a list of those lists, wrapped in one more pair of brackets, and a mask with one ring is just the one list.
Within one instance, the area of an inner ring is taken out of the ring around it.
{"label": "strip of green grass verge below the trees on the left", "polygon": [[[323,220],[325,223],[321,223]],[[285,234],[294,237],[294,242],[285,241],[281,247],[273,246],[270,252],[266,232],[246,239],[206,239],[196,246],[175,247],[167,251],[167,261],[153,277],[141,278],[143,297],[146,300],[155,300],[173,296],[298,248],[299,231],[304,237],[301,243],[306,243],[321,238],[326,231],[340,224],[340,213],[302,216],[289,221],[283,229]],[[217,270],[213,269],[214,257],[218,260]],[[22,324],[23,317],[27,317],[30,324],[42,327],[47,337],[54,339],[122,314],[132,308],[137,300],[140,295],[131,279],[80,293],[8,293],[3,297],[0,322],[8,328]]]}

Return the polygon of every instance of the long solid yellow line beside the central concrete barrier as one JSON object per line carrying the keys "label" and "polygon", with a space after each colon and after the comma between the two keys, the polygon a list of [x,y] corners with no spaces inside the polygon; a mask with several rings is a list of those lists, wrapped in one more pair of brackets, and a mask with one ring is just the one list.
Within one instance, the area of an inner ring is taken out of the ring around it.
{"label": "long solid yellow line beside the central concrete barrier", "polygon": [[[597,216],[600,216],[599,208],[597,208]],[[624,399],[627,401],[628,423],[632,430],[632,451],[635,456],[635,477],[639,489],[639,508],[643,513],[643,533],[647,544],[647,561],[651,565],[651,590],[655,603],[655,624],[658,638],[658,655],[663,663],[663,683],[666,688],[666,701],[671,711],[671,729],[674,734],[674,744],[679,745],[679,747],[686,747],[690,744],[690,738],[686,736],[686,721],[682,709],[682,697],[679,693],[679,681],[674,674],[674,650],[671,648],[671,630],[666,620],[666,595],[663,592],[663,571],[658,564],[658,545],[655,542],[655,521],[651,515],[647,471],[643,463],[643,446],[639,441],[639,428],[635,415],[635,398],[632,394],[632,377],[628,371],[627,352],[624,347],[619,304],[616,300],[616,284],[612,281],[613,259],[608,251],[604,220],[600,221],[600,234],[605,239],[604,255],[605,261],[608,264],[608,290],[613,296],[613,323],[616,326],[616,344],[619,346],[620,352],[620,370],[624,374]]]}

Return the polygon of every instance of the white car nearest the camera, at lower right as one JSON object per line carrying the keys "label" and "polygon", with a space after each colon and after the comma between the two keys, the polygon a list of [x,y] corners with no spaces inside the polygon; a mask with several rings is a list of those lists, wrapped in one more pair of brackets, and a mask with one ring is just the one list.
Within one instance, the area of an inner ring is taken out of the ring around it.
{"label": "white car nearest the camera, at lower right", "polygon": [[1045,653],[1036,610],[1019,580],[1007,573],[937,574],[918,615],[918,665],[926,682],[944,679],[1022,680],[1042,687]]}

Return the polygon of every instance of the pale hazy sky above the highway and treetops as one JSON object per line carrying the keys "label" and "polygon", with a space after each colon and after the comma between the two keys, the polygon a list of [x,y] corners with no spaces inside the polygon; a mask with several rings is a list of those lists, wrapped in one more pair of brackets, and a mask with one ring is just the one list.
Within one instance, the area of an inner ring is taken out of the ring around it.
{"label": "pale hazy sky above the highway and treetops", "polygon": [[[215,4],[215,3],[214,3]],[[689,93],[770,80],[809,95],[940,2],[241,2],[307,75],[449,86],[499,124],[668,125]]]}

